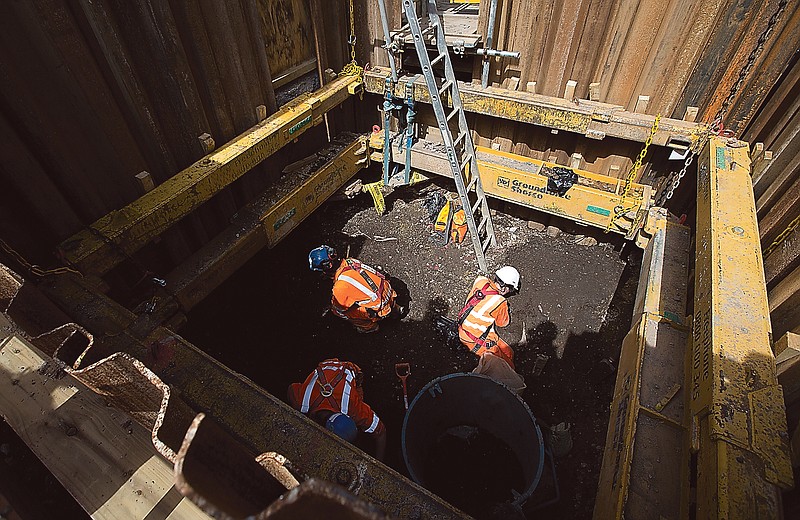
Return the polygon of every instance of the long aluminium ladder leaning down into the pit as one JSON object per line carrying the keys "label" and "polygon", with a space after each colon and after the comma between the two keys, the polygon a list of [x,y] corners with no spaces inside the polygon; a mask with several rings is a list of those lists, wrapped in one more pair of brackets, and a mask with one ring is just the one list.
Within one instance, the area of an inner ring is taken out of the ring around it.
{"label": "long aluminium ladder leaning down into the pit", "polygon": [[[478,267],[482,272],[487,272],[486,251],[489,247],[497,243],[494,234],[492,216],[489,213],[489,204],[486,201],[486,194],[483,192],[480,173],[478,172],[478,159],[475,154],[475,146],[472,143],[472,136],[467,127],[467,118],[464,108],[461,105],[461,95],[458,91],[456,76],[453,72],[453,64],[450,61],[450,53],[445,42],[444,25],[442,17],[436,9],[435,0],[426,0],[428,5],[428,27],[420,27],[417,9],[414,0],[403,0],[403,11],[409,25],[412,36],[414,37],[414,47],[417,50],[419,63],[422,67],[422,75],[430,93],[433,112],[436,114],[436,121],[442,131],[442,140],[447,150],[447,162],[453,179],[456,182],[458,195],[461,199],[461,206],[467,217],[467,228],[472,237],[472,246],[475,249],[475,256],[478,259]],[[436,40],[436,57],[432,60],[428,57],[428,49],[425,45],[425,33],[433,30]],[[434,65],[444,64],[444,78],[434,76]],[[452,111],[445,112],[444,100],[450,99]],[[450,124],[453,120],[458,122],[455,138]],[[474,190],[471,197],[470,192]],[[471,198],[474,197],[474,201]],[[476,219],[478,224],[475,224]]]}

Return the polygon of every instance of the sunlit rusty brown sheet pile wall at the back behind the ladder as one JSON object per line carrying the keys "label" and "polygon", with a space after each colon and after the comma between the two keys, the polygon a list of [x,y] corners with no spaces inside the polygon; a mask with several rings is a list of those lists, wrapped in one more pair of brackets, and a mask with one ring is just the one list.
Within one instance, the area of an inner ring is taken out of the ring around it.
{"label": "sunlit rusty brown sheet pile wall at the back behind the ladder", "polygon": [[[357,9],[359,1],[367,4],[366,18],[377,19],[377,6],[369,5],[377,3],[356,0]],[[489,3],[480,3],[484,41]],[[387,4],[399,12],[399,0]],[[380,24],[359,36],[366,60],[386,64]],[[596,99],[677,119],[687,107],[698,107],[689,117],[711,122],[724,115],[725,126],[741,132],[798,41],[798,5],[786,0],[498,0],[494,47],[522,57],[492,60],[489,80],[511,90]],[[480,59],[472,77],[480,81]],[[477,117],[474,128],[478,145],[562,164],[580,153],[586,169],[617,177],[627,174],[640,150],[624,141],[607,138],[598,145],[487,117]],[[645,172],[644,179],[664,173]]]}

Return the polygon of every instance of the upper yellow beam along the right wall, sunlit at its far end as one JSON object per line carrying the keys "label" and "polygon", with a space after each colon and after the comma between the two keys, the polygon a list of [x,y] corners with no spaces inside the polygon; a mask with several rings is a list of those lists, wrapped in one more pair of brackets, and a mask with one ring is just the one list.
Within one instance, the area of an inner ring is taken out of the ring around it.
{"label": "upper yellow beam along the right wall, sunlit at its far end", "polygon": [[792,486],[747,143],[700,155],[691,352],[697,518],[779,518]]}

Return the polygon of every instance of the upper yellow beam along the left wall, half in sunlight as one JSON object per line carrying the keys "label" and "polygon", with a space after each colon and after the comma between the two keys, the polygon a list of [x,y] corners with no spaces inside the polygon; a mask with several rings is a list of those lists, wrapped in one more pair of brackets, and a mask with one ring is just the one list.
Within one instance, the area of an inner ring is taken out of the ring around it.
{"label": "upper yellow beam along the left wall, half in sunlight", "polygon": [[307,129],[350,94],[359,79],[335,79],[303,94],[124,208],[112,211],[60,245],[84,273],[104,274]]}

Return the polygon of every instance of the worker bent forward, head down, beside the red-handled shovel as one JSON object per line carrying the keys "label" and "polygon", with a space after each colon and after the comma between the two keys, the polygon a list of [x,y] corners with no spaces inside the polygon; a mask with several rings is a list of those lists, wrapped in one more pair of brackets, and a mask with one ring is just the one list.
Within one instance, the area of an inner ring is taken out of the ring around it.
{"label": "worker bent forward, head down, beside the red-handled shovel", "polygon": [[370,434],[375,457],[383,459],[386,427],[364,402],[363,379],[355,363],[327,359],[305,382],[289,385],[289,404],[347,442],[354,442],[359,430]]}

